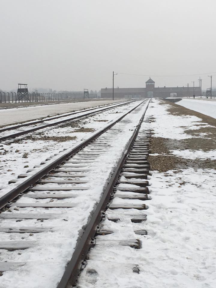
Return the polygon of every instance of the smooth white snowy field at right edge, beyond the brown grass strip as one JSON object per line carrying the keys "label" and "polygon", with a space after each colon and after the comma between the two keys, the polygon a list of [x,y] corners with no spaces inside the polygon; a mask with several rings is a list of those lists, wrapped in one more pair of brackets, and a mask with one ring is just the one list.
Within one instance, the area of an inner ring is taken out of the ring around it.
{"label": "smooth white snowy field at right edge, beyond the brown grass strip", "polygon": [[196,112],[216,118],[216,101],[205,101],[197,99],[182,99],[176,104]]}

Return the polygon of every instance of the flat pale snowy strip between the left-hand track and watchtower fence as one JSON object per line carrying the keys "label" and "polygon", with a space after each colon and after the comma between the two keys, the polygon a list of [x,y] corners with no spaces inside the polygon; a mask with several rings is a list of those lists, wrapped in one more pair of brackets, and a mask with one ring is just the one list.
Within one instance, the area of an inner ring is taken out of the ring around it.
{"label": "flat pale snowy strip between the left-hand track and watchtower fence", "polygon": [[125,101],[125,99],[118,100],[101,100],[101,101],[86,101],[86,102],[72,102],[43,106],[31,106],[24,108],[11,108],[0,110],[0,125],[9,125],[16,122],[29,121],[46,117],[47,115],[53,116],[58,113],[72,112],[73,110],[87,109],[91,107],[112,104],[115,102]]}

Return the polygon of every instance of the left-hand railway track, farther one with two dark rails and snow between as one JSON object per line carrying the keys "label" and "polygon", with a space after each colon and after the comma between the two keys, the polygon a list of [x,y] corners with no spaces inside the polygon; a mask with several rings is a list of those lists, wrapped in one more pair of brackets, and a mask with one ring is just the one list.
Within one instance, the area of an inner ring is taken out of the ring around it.
{"label": "left-hand railway track, farther one with two dark rails and snow between", "polygon": [[[41,119],[37,121],[30,121],[26,123],[22,123],[19,125],[9,125],[5,128],[0,129],[0,141],[4,141],[2,144],[10,144],[13,143],[13,138],[20,137],[24,134],[28,134],[30,132],[35,132],[40,129],[44,129],[47,127],[55,126],[55,125],[61,125],[66,122],[74,121],[76,119],[80,119],[83,117],[87,117],[89,115],[93,115],[95,113],[101,113],[106,110],[110,110],[116,107],[121,107],[124,105],[128,105],[133,101],[125,101],[123,103],[117,103],[117,104],[109,104],[104,105],[103,107],[96,107],[96,108],[90,108],[85,109],[84,111],[77,111],[72,113],[65,113],[64,115],[59,115],[55,117],[49,117],[48,119]],[[62,118],[61,120],[59,120]],[[57,121],[56,121],[57,120]],[[45,122],[45,123],[44,123]],[[27,128],[27,129],[26,129]],[[10,131],[10,133],[9,133]]]}

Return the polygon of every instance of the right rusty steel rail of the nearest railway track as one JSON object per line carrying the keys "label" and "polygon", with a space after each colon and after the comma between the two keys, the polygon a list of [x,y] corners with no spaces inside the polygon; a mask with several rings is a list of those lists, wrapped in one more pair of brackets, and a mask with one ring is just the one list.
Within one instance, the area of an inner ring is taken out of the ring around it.
{"label": "right rusty steel rail of the nearest railway track", "polygon": [[[150,99],[151,100],[151,99]],[[149,102],[150,102],[149,100]],[[101,221],[102,218],[102,212],[106,209],[107,203],[109,202],[111,193],[113,192],[113,188],[116,184],[116,180],[119,177],[119,174],[122,170],[123,164],[125,162],[125,158],[128,154],[128,152],[131,149],[131,146],[140,130],[141,124],[143,122],[146,110],[149,106],[149,103],[146,106],[146,109],[143,113],[143,116],[140,119],[139,124],[137,125],[137,128],[135,129],[132,137],[129,140],[129,143],[125,149],[125,152],[123,153],[121,159],[119,160],[119,163],[117,164],[113,175],[111,176],[111,179],[109,181],[109,184],[106,188],[106,190],[104,191],[100,202],[98,203],[95,212],[92,214],[91,216],[91,220],[89,221],[80,241],[78,242],[72,258],[70,259],[70,261],[68,262],[64,274],[60,280],[60,282],[58,283],[57,288],[69,288],[72,287],[73,285],[76,284],[76,279],[79,275],[79,271],[81,268],[81,264],[82,261],[85,259],[89,248],[91,247],[91,240],[92,238],[94,238],[95,233],[96,233],[96,229],[98,224]]]}

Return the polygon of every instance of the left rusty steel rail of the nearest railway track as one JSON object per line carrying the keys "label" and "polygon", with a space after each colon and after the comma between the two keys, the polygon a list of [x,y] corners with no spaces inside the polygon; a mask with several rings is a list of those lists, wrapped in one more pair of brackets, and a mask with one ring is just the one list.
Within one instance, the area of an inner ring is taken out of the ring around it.
{"label": "left rusty steel rail of the nearest railway track", "polygon": [[28,179],[26,179],[24,182],[19,184],[17,187],[13,188],[8,193],[3,195],[0,198],[0,209],[4,208],[8,204],[8,202],[12,201],[14,198],[19,196],[20,193],[23,193],[30,186],[34,185],[35,182],[37,182],[39,179],[41,179],[46,174],[48,174],[52,169],[58,167],[58,165],[62,164],[62,162],[64,162],[64,161],[66,161],[67,158],[70,158],[73,154],[75,154],[80,149],[82,149],[83,147],[88,145],[92,140],[95,140],[97,137],[99,137],[105,131],[107,131],[108,129],[113,127],[117,122],[122,120],[126,115],[128,115],[129,113],[134,111],[137,107],[139,107],[144,102],[145,102],[145,100],[142,101],[140,104],[136,105],[134,108],[132,108],[128,112],[126,112],[121,117],[119,117],[116,121],[114,121],[111,124],[107,125],[105,128],[101,129],[100,131],[98,131],[97,133],[95,133],[94,135],[92,135],[91,137],[89,137],[87,140],[83,141],[82,143],[80,143],[76,147],[70,149],[68,152],[64,153],[63,155],[61,155],[60,157],[55,159],[52,163],[48,164],[46,167],[44,167],[43,169],[41,169],[40,171],[38,171],[37,173],[35,173],[31,177],[29,177]]}

